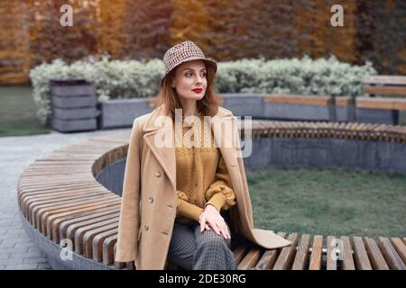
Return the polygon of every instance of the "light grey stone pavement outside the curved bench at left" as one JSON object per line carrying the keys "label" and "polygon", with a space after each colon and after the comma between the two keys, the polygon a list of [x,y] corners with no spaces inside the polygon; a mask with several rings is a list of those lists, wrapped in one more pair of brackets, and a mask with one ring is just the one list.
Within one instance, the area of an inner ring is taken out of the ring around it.
{"label": "light grey stone pavement outside the curved bench at left", "polygon": [[19,219],[17,181],[26,166],[57,148],[129,129],[0,138],[0,270],[51,269],[45,255],[26,235]]}

